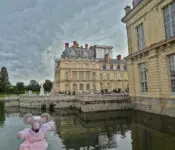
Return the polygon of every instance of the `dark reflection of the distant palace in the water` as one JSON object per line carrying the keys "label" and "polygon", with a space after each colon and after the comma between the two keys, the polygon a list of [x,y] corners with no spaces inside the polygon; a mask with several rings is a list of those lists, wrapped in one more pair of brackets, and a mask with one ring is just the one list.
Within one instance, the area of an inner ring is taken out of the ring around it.
{"label": "dark reflection of the distant palace in the water", "polygon": [[[112,113],[114,115],[114,112]],[[125,132],[129,130],[130,119],[127,116],[121,117],[121,115],[118,115],[117,113],[120,114],[116,111],[115,119],[110,119],[111,112],[109,112],[108,118],[104,117],[104,119],[102,115],[103,112],[101,115],[97,113],[97,116],[101,116],[101,118],[97,120],[94,120],[95,117],[91,117],[91,114],[86,114],[86,117],[83,117],[82,114],[80,117],[78,114],[59,116],[56,120],[57,131],[63,139],[67,149],[111,149],[117,147],[116,135],[124,137],[122,134],[125,135]],[[128,116],[130,115],[128,114]],[[107,137],[106,147],[103,146],[103,140],[100,140],[102,135]]]}

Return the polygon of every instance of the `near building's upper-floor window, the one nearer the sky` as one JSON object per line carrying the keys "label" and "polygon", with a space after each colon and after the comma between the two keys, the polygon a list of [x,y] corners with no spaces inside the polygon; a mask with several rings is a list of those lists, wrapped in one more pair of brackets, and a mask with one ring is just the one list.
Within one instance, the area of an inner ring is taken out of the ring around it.
{"label": "near building's upper-floor window, the one nearer the sky", "polygon": [[137,32],[138,49],[143,50],[145,48],[143,23],[136,27],[136,32]]}

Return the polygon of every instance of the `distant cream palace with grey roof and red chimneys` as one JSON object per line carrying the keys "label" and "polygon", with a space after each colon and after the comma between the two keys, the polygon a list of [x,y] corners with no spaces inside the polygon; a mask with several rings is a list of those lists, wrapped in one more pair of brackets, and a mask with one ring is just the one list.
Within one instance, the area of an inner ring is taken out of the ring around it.
{"label": "distant cream palace with grey roof and red chimneys", "polygon": [[83,48],[76,41],[71,47],[69,43],[65,43],[61,58],[55,62],[56,92],[88,93],[105,89],[127,90],[127,68],[121,55],[116,59],[110,59],[110,55],[105,52],[104,57],[96,58],[91,48],[88,48],[87,44]]}

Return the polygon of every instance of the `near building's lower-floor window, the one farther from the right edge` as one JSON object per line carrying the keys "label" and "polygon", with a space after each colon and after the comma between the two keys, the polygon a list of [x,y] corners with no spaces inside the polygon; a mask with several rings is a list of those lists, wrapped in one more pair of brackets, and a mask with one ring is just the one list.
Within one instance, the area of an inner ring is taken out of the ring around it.
{"label": "near building's lower-floor window, the one farther from the right edge", "polygon": [[146,75],[146,64],[145,63],[140,64],[139,69],[140,69],[140,87],[141,87],[141,92],[148,92],[147,75]]}

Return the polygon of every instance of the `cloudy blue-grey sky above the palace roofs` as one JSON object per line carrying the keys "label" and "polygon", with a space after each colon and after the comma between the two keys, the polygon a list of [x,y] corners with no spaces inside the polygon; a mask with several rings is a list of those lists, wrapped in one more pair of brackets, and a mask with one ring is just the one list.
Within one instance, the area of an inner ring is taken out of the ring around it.
{"label": "cloudy blue-grey sky above the palace roofs", "polygon": [[[114,46],[127,55],[124,7],[132,0],[1,0],[0,67],[10,81],[53,80],[65,41]],[[114,56],[115,57],[115,56]]]}

